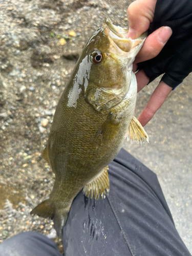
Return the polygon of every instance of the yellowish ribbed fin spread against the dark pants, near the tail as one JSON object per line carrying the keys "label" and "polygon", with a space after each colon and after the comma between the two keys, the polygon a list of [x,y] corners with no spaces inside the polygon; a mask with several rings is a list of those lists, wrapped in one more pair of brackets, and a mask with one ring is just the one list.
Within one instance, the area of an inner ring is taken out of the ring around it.
{"label": "yellowish ribbed fin spread against the dark pants, near the tail", "polygon": [[110,182],[108,178],[108,166],[104,167],[103,170],[89,183],[83,187],[83,193],[86,197],[101,199],[105,198],[106,195],[109,195],[110,191]]}

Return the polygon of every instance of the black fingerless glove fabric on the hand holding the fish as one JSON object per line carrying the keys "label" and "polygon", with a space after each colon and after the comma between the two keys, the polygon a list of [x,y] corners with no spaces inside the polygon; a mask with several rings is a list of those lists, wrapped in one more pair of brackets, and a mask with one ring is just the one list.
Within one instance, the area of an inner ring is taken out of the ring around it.
{"label": "black fingerless glove fabric on the hand holding the fish", "polygon": [[157,0],[148,33],[162,26],[172,28],[172,36],[157,57],[138,63],[138,69],[150,82],[164,73],[161,80],[176,88],[192,71],[192,1]]}

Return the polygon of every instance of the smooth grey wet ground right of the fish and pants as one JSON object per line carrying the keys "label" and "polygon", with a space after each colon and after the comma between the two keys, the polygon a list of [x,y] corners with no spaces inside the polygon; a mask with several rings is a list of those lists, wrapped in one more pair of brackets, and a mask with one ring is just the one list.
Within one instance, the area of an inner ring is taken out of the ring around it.
{"label": "smooth grey wet ground right of the fish and pants", "polygon": [[[176,228],[192,252],[192,75],[170,93],[154,118],[145,126],[150,143],[125,142],[123,147],[152,169],[159,179]],[[158,84],[145,87],[137,99],[138,117]]]}

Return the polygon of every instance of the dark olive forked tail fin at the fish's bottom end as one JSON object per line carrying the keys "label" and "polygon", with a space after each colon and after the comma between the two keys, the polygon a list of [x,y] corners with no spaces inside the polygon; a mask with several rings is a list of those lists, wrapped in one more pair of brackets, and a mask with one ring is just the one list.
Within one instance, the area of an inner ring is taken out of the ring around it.
{"label": "dark olive forked tail fin at the fish's bottom end", "polygon": [[57,236],[60,237],[61,229],[65,226],[68,219],[69,210],[59,209],[57,210],[49,201],[49,199],[43,201],[37,205],[30,214],[36,214],[40,217],[50,218],[54,222],[54,228],[57,232]]}

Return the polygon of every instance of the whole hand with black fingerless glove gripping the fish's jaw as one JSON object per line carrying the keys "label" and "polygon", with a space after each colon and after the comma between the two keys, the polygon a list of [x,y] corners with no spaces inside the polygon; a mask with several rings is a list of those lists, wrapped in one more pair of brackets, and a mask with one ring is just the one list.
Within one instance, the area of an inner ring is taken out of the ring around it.
{"label": "whole hand with black fingerless glove gripping the fish's jaw", "polygon": [[[136,74],[138,92],[165,73],[138,118],[143,126],[151,120],[170,91],[192,71],[191,3],[189,0],[137,0],[128,8],[128,37],[137,38],[147,29],[150,33],[134,61],[133,71],[137,70],[137,63],[139,68]],[[173,35],[170,28],[162,25],[172,27]]]}

